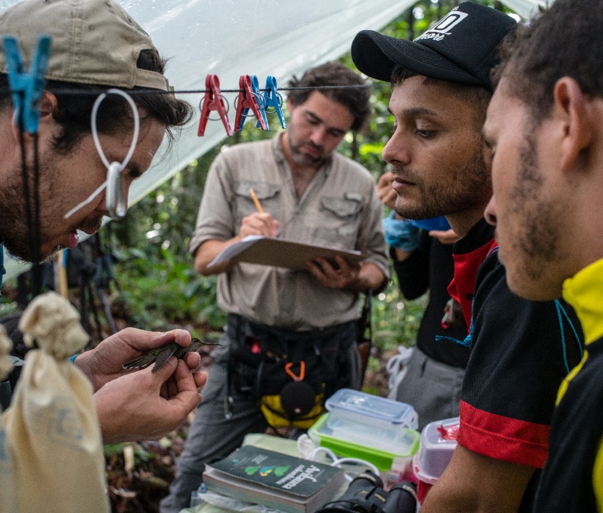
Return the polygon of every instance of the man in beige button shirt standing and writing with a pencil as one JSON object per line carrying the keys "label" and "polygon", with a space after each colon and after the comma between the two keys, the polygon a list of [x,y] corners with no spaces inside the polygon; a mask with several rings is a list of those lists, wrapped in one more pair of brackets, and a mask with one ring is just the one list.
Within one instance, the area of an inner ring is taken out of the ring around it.
{"label": "man in beige button shirt standing and writing with a pencil", "polygon": [[[356,266],[318,258],[306,271],[239,263],[219,274],[218,302],[229,313],[224,347],[213,353],[210,388],[163,513],[188,506],[206,461],[227,456],[245,434],[267,428],[258,406],[265,380],[260,369],[291,357],[298,378],[298,363],[306,362],[308,380],[307,364],[318,360],[323,400],[338,388],[359,386],[358,294],[384,287],[389,269],[373,179],[335,149],[367,119],[369,91],[339,63],[308,70],[291,85],[305,89],[289,94],[285,132],[272,141],[235,146],[213,162],[191,239],[195,268],[215,273],[207,264],[246,235],[356,249],[367,258]],[[343,87],[320,89],[327,85]]]}

